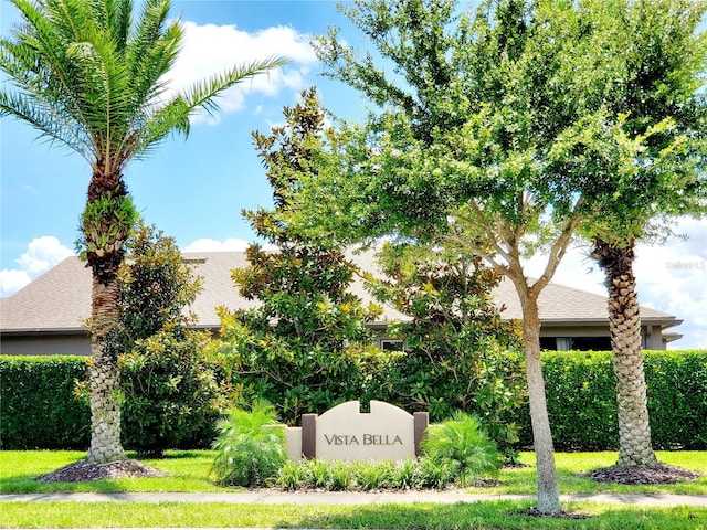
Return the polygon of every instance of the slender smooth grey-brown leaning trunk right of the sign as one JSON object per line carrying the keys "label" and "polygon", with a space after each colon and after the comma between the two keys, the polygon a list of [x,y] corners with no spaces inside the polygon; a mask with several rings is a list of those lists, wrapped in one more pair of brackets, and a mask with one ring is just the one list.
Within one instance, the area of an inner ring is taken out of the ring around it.
{"label": "slender smooth grey-brown leaning trunk right of the sign", "polygon": [[[526,279],[523,278],[523,284]],[[560,497],[555,471],[555,447],[548,417],[545,380],[540,360],[540,317],[537,297],[527,287],[516,284],[523,307],[523,346],[528,379],[528,401],[530,403],[530,423],[538,469],[538,511],[559,513]]]}

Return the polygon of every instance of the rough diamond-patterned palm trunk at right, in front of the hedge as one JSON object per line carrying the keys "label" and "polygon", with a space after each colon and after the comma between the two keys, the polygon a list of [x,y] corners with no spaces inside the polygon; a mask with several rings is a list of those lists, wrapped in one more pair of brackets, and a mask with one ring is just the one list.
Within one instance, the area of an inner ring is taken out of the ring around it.
{"label": "rough diamond-patterned palm trunk at right, in front of the hedge", "polygon": [[592,257],[606,275],[609,328],[619,402],[619,466],[651,467],[657,459],[651,444],[651,424],[641,350],[641,316],[633,275],[635,242],[627,246],[594,241]]}

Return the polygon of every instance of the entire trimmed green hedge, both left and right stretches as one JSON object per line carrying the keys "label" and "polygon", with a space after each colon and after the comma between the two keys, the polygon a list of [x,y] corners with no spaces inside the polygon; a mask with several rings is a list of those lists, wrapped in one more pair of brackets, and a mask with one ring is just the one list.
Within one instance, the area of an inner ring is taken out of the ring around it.
{"label": "entire trimmed green hedge, both left and right stretches", "polygon": [[[707,451],[707,351],[646,351],[644,370],[655,449]],[[73,396],[85,357],[0,356],[0,448],[73,448],[89,444],[88,405]],[[555,446],[605,451],[619,446],[611,352],[545,352],[542,368]],[[528,407],[520,446],[532,444]]]}

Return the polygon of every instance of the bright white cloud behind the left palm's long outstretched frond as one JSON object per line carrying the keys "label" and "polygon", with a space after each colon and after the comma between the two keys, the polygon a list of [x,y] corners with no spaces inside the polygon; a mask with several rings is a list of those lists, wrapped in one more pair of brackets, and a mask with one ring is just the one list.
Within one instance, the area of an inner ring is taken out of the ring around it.
{"label": "bright white cloud behind the left palm's long outstretched frond", "polygon": [[[184,46],[169,74],[171,88],[183,89],[214,74],[263,61],[275,55],[292,62],[281,68],[246,80],[229,88],[217,100],[222,113],[234,113],[245,106],[245,96],[257,92],[274,96],[281,89],[299,91],[317,57],[309,45],[309,38],[293,28],[273,26],[254,33],[239,30],[235,25],[198,25],[182,22]],[[193,121],[217,124],[218,116],[202,113]]]}

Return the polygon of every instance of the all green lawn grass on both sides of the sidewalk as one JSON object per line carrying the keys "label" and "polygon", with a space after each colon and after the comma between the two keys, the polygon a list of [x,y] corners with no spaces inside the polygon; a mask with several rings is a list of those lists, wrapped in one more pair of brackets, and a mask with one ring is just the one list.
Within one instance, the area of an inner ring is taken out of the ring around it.
{"label": "all green lawn grass on both sides of the sidewalk", "polygon": [[[88,484],[40,484],[34,478],[85,456],[77,452],[0,452],[0,491],[232,491],[209,480],[212,452],[170,452],[144,460],[170,473],[151,479],[99,480]],[[134,456],[134,455],[133,455]],[[657,454],[661,462],[707,471],[707,452]],[[707,477],[672,486],[600,485],[577,474],[610,466],[615,453],[558,453],[560,492],[707,495]],[[471,492],[535,494],[534,455],[521,454],[526,467],[504,469],[500,485]],[[469,496],[469,499],[473,497]],[[594,502],[567,502],[566,511],[585,519],[535,518],[523,515],[531,502],[494,501],[455,505],[254,506],[181,502],[2,502],[0,528],[102,527],[276,527],[377,529],[707,529],[707,508],[637,508]]]}

